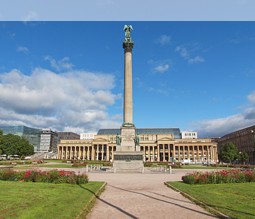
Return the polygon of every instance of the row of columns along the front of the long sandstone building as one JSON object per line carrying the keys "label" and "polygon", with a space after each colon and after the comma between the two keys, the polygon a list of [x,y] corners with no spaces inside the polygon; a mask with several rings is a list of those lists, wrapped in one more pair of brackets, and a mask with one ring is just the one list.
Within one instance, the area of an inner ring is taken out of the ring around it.
{"label": "row of columns along the front of the long sandstone building", "polygon": [[[146,162],[211,162],[217,161],[217,146],[185,145],[162,143],[140,145]],[[63,145],[58,146],[58,158],[64,160],[102,160],[111,161],[114,144]]]}

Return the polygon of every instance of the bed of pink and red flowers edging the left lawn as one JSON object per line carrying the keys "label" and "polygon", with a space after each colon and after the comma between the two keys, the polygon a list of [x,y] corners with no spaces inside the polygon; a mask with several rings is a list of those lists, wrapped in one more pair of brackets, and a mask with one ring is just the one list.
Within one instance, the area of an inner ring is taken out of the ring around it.
{"label": "bed of pink and red flowers edging the left lawn", "polygon": [[84,184],[88,182],[86,174],[75,174],[72,171],[64,170],[0,170],[0,180],[21,181],[21,182],[47,182],[47,183],[68,183]]}

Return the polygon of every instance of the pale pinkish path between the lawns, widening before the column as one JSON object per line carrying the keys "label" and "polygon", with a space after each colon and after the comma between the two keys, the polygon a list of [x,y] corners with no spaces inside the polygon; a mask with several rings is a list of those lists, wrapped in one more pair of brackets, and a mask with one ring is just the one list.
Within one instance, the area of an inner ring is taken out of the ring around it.
{"label": "pale pinkish path between the lawns, widening before the column", "polygon": [[172,174],[88,173],[90,181],[105,181],[107,186],[87,218],[217,218],[164,185],[181,180],[187,172],[194,170],[173,170]]}

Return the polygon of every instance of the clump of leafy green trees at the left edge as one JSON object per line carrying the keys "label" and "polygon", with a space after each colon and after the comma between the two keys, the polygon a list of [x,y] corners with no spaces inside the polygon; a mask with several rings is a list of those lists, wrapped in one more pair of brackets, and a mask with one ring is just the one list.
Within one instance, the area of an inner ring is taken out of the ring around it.
{"label": "clump of leafy green trees at the left edge", "polygon": [[0,155],[28,156],[34,154],[34,146],[28,140],[18,135],[3,135],[0,130]]}

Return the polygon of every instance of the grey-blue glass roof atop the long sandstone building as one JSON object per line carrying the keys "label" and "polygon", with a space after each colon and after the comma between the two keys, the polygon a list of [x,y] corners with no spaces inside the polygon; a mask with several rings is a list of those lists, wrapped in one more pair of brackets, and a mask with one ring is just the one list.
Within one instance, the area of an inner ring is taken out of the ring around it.
{"label": "grey-blue glass roof atop the long sandstone building", "polygon": [[[120,134],[120,129],[99,129],[98,135],[117,135]],[[174,138],[181,138],[179,128],[137,128],[136,134],[173,134]]]}

